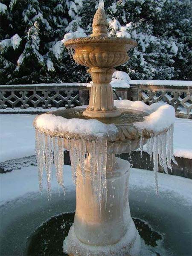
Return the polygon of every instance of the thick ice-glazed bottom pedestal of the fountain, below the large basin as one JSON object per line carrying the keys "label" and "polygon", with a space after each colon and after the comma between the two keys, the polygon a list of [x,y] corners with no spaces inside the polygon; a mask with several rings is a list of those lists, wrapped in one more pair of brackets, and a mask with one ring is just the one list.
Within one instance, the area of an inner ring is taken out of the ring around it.
{"label": "thick ice-glazed bottom pedestal of the fountain, below the large basin", "polygon": [[[140,236],[131,219],[128,202],[130,164],[108,155],[107,196],[100,204],[90,179],[89,163],[83,181],[77,172],[76,215],[64,252],[78,256],[131,256],[140,251]],[[97,180],[97,179],[96,179]]]}

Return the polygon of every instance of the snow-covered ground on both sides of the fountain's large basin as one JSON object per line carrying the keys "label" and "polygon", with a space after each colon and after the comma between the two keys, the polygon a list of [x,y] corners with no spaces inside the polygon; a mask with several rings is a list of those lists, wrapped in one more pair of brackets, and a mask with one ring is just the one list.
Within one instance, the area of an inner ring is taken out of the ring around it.
{"label": "snow-covered ground on both sides of the fountain's large basin", "polygon": [[[0,115],[0,162],[35,154],[36,115]],[[192,120],[176,118],[174,155],[192,159]]]}

